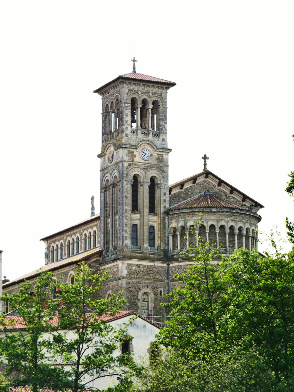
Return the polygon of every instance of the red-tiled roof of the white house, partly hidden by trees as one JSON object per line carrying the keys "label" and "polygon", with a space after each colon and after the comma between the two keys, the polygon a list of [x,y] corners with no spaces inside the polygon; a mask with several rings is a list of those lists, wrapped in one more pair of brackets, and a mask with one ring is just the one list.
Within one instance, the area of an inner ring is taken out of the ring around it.
{"label": "red-tiled roof of the white house, partly hidden by trees", "polygon": [[[91,313],[88,314],[89,317],[91,317]],[[161,329],[158,325],[156,325],[156,323],[154,323],[152,320],[146,319],[142,316],[140,316],[139,314],[133,312],[132,310],[122,310],[121,312],[117,312],[116,314],[103,314],[100,317],[97,317],[97,319],[99,320],[103,320],[106,323],[110,323],[111,321],[116,321],[128,316],[137,316],[138,318],[146,321],[149,324],[154,325],[154,327]],[[59,318],[59,314],[54,315],[53,319],[51,320],[51,324],[56,327],[58,324],[58,318]],[[9,330],[25,330],[25,324],[23,323],[23,318],[21,316],[5,316],[5,319],[8,321],[9,320],[9,324],[6,325],[6,328]],[[11,321],[13,321],[13,323],[11,323]]]}

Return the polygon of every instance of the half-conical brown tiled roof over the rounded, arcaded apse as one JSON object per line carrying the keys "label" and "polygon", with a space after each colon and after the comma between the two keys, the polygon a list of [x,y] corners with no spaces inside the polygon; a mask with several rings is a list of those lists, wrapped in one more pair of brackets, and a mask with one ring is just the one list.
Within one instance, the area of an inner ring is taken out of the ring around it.
{"label": "half-conical brown tiled roof over the rounded, arcaded apse", "polygon": [[241,209],[245,211],[250,211],[249,208],[227,201],[219,196],[211,194],[210,191],[205,191],[191,199],[182,201],[170,208],[170,211],[183,210],[183,209],[194,209],[194,208],[230,208],[230,209]]}

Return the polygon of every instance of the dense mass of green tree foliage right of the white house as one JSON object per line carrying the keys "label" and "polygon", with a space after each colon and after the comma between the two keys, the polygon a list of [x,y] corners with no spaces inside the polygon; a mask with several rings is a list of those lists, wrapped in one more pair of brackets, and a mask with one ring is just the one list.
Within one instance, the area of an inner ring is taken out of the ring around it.
{"label": "dense mass of green tree foliage right of the white house", "polygon": [[239,249],[221,258],[199,243],[164,304],[170,320],[157,345],[169,355],[151,361],[137,390],[292,391],[294,253]]}

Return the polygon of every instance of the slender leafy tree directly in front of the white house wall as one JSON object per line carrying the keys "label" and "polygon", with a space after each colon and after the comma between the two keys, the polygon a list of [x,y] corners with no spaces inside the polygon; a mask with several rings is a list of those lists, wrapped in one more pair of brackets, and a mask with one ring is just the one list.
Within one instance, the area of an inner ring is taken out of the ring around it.
{"label": "slender leafy tree directly in front of the white house wall", "polygon": [[59,330],[53,335],[54,353],[58,361],[68,365],[71,388],[74,392],[86,384],[86,375],[93,379],[116,376],[122,380],[138,370],[131,353],[121,354],[120,345],[131,339],[127,324],[114,328],[103,318],[104,314],[113,316],[122,309],[125,299],[123,293],[111,295],[109,299],[98,299],[98,292],[108,274],[93,274],[88,265],[82,263],[76,270],[74,283],[63,284],[59,314]]}

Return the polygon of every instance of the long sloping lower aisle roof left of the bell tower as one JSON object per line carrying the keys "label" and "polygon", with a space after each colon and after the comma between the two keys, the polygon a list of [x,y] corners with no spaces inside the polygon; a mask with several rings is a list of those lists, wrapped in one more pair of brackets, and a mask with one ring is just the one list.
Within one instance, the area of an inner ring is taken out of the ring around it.
{"label": "long sloping lower aisle roof left of the bell tower", "polygon": [[20,276],[19,278],[16,278],[16,279],[13,279],[7,283],[4,283],[4,285],[2,287],[5,290],[7,287],[12,286],[15,283],[21,283],[27,279],[36,278],[37,276],[42,274],[42,272],[44,272],[44,271],[54,271],[54,270],[60,269],[62,267],[66,267],[67,265],[77,263],[78,261],[86,260],[89,256],[97,255],[98,257],[101,257],[102,252],[103,252],[103,249],[99,249],[99,248],[85,250],[85,252],[75,254],[74,256],[67,257],[66,259],[55,261],[54,263],[46,264],[38,270],[34,270],[34,271],[29,272],[23,276]]}

